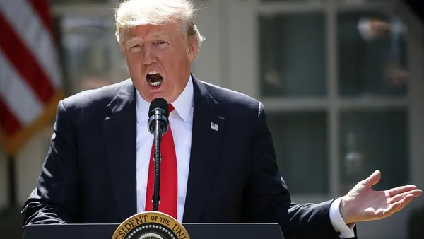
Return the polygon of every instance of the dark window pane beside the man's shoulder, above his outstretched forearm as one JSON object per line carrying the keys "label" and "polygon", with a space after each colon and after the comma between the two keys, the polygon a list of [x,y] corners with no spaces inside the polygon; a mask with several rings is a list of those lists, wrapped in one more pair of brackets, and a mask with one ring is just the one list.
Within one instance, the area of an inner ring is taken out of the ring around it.
{"label": "dark window pane beside the man's shoulder, above his outstretched forearm", "polygon": [[326,113],[268,113],[267,122],[290,192],[328,193]]}

